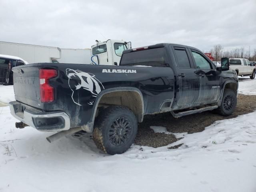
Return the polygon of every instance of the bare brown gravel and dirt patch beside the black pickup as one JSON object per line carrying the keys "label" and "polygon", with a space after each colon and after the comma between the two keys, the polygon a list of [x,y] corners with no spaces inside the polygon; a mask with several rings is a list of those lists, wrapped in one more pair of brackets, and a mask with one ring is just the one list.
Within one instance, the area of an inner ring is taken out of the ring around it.
{"label": "bare brown gravel and dirt patch beside the black pickup", "polygon": [[231,116],[224,117],[213,112],[202,112],[180,118],[174,118],[170,112],[146,115],[142,123],[138,124],[138,134],[135,138],[135,144],[142,146],[160,147],[176,142],[173,134],[154,133],[150,126],[163,126],[169,132],[173,133],[195,133],[201,132],[205,127],[211,125],[217,120],[230,119],[238,115],[253,112],[256,109],[256,96],[238,94],[237,107]]}

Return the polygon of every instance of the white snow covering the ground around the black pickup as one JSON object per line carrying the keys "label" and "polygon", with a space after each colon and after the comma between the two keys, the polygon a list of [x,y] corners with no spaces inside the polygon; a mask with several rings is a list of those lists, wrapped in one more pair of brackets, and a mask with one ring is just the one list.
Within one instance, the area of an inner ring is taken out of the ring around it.
{"label": "white snow covering the ground around the black pickup", "polygon": [[[255,90],[256,80],[239,82],[241,93]],[[13,99],[12,86],[0,86],[0,102]],[[45,138],[52,133],[16,129],[8,106],[0,107],[0,191],[255,192],[255,116],[252,112],[217,121],[203,132],[178,133],[183,139],[168,146],[133,145],[109,156],[96,148],[90,134],[50,144]],[[164,127],[151,128],[170,134]]]}

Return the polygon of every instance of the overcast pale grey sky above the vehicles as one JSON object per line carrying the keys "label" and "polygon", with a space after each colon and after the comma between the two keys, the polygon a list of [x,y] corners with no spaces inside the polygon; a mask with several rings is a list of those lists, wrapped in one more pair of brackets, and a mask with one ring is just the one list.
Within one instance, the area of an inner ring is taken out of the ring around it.
{"label": "overcast pale grey sky above the vehicles", "polygon": [[177,43],[256,48],[256,0],[0,0],[0,41],[90,48]]}

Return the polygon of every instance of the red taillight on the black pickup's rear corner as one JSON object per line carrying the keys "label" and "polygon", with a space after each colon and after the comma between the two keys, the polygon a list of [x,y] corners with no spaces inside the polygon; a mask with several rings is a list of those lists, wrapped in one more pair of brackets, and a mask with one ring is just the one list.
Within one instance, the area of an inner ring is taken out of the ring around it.
{"label": "red taillight on the black pickup's rear corner", "polygon": [[57,76],[55,69],[40,69],[39,81],[40,81],[40,100],[43,103],[49,103],[54,101],[54,88],[49,85],[49,79]]}

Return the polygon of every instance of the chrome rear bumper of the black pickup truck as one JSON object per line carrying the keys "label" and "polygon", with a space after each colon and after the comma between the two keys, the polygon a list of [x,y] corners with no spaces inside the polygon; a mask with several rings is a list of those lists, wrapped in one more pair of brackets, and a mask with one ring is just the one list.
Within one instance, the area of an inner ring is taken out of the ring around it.
{"label": "chrome rear bumper of the black pickup truck", "polygon": [[9,103],[12,116],[39,131],[63,131],[70,129],[70,118],[62,111],[43,112],[18,101]]}

